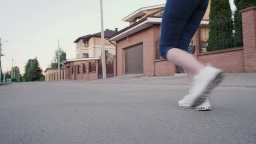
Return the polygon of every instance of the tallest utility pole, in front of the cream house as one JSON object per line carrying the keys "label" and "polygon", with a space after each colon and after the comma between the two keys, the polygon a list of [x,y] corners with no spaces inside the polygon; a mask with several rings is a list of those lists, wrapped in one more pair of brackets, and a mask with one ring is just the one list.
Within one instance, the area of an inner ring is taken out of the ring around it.
{"label": "tallest utility pole, in front of the cream house", "polygon": [[101,38],[102,38],[102,76],[103,79],[106,79],[106,57],[105,57],[105,48],[104,48],[104,26],[103,26],[103,7],[102,7],[102,0],[100,0],[100,13],[101,13]]}

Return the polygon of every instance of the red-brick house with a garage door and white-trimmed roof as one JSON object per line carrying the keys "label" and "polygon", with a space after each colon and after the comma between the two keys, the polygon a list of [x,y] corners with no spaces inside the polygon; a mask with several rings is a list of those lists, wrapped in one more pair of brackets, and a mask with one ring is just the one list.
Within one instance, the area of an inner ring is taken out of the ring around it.
{"label": "red-brick house with a garage door and white-trimmed roof", "polygon": [[[210,5],[210,4],[209,4]],[[165,4],[143,7],[125,16],[129,26],[110,36],[116,42],[117,76],[127,74],[174,75],[183,69],[159,55],[159,39]],[[201,25],[209,23],[208,7]]]}

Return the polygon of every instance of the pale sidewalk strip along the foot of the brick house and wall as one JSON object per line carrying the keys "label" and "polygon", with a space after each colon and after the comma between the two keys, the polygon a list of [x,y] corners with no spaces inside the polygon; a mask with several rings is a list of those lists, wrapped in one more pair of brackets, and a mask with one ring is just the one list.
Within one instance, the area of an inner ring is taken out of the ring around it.
{"label": "pale sidewalk strip along the foot of the brick house and wall", "polygon": [[[96,81],[80,81],[79,83],[118,83],[118,84],[147,84],[147,85],[189,85],[187,76],[144,76],[141,74],[125,75]],[[220,84],[224,87],[256,87],[256,73],[225,73],[225,79]]]}

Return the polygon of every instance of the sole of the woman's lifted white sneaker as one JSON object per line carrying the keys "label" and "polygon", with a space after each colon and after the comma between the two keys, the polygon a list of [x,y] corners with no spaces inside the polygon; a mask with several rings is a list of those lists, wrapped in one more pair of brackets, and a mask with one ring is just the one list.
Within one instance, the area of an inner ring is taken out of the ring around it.
{"label": "sole of the woman's lifted white sneaker", "polygon": [[223,79],[224,79],[223,71],[218,72],[217,75],[213,77],[212,80],[210,80],[207,87],[204,89],[203,94],[194,101],[194,104],[192,105],[192,107],[194,108],[198,105],[201,105],[205,101],[205,99],[208,98],[211,90],[213,90],[213,88],[219,85],[220,82],[223,81]]}

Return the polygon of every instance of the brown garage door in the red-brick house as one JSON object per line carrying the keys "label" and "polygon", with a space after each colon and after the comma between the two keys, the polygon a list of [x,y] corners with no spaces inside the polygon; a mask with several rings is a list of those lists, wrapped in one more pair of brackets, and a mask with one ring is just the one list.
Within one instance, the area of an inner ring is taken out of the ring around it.
{"label": "brown garage door in the red-brick house", "polygon": [[143,45],[125,49],[125,74],[143,73]]}

